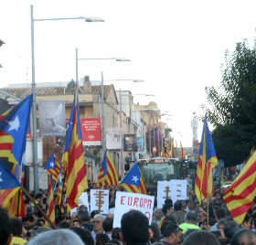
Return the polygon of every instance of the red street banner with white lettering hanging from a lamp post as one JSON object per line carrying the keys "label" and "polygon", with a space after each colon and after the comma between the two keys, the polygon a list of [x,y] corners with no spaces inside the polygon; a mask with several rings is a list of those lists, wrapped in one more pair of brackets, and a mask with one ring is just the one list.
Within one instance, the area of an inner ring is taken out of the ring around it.
{"label": "red street banner with white lettering hanging from a lamp post", "polygon": [[101,145],[101,118],[80,118],[82,145]]}

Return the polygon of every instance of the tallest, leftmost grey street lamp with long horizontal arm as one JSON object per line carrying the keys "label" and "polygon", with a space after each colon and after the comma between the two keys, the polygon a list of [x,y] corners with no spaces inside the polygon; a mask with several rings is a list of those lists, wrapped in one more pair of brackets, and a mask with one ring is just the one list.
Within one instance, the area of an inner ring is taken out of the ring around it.
{"label": "tallest, leftmost grey street lamp with long horizontal arm", "polygon": [[99,17],[68,17],[68,18],[34,18],[33,5],[30,5],[30,23],[31,23],[31,60],[32,60],[32,120],[33,120],[33,164],[34,164],[34,193],[39,190],[38,185],[38,160],[37,160],[37,103],[36,103],[36,80],[35,80],[35,51],[34,51],[34,22],[52,21],[52,20],[75,20],[84,19],[86,22],[104,22]]}

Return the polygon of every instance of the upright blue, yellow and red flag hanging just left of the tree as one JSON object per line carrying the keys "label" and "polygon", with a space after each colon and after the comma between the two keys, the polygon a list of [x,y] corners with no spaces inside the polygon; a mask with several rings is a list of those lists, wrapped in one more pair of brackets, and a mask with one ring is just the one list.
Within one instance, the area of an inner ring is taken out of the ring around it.
{"label": "upright blue, yellow and red flag hanging just left of the tree", "polygon": [[199,204],[201,204],[202,199],[210,197],[213,194],[212,169],[215,165],[218,165],[218,159],[208,130],[206,115],[198,155],[197,175],[195,181],[195,193]]}

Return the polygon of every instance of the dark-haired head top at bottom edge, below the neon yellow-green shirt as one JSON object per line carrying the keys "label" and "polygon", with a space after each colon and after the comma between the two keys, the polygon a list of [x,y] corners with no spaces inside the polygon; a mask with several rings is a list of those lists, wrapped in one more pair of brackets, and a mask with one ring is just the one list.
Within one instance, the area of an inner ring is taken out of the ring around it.
{"label": "dark-haired head top at bottom edge, below the neon yellow-green shirt", "polygon": [[210,232],[204,230],[192,231],[182,242],[182,245],[219,245],[219,240]]}

